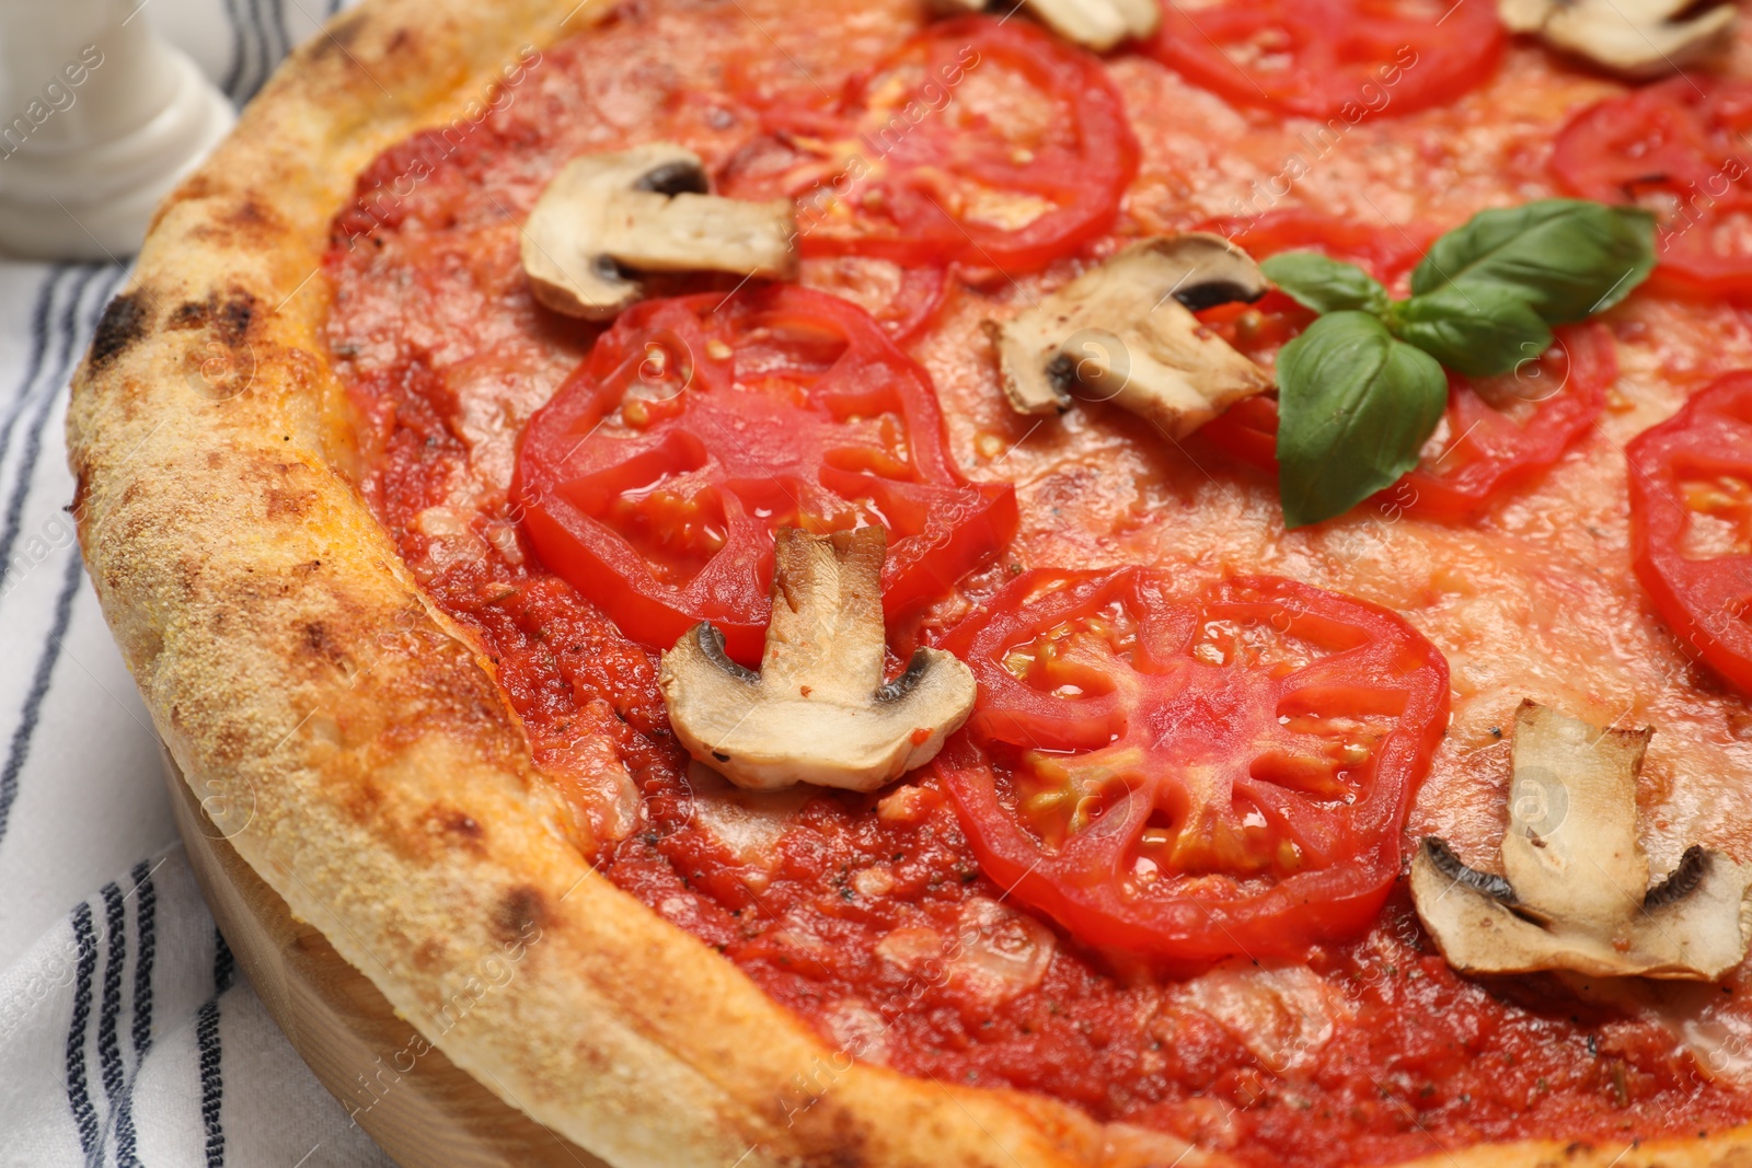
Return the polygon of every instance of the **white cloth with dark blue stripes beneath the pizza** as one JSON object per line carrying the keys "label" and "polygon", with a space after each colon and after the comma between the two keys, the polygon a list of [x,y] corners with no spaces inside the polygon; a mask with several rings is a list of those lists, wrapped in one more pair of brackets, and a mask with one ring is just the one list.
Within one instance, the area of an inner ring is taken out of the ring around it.
{"label": "white cloth with dark blue stripes beneath the pizza", "polygon": [[[340,7],[145,18],[242,103]],[[74,543],[67,380],[124,275],[0,257],[0,1168],[387,1168],[237,977]]]}

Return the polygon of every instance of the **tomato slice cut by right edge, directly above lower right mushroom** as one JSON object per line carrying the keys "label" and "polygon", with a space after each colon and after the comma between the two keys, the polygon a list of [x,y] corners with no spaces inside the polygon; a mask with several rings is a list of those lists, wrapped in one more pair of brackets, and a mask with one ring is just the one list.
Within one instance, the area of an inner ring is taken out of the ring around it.
{"label": "tomato slice cut by right edge, directly above lower right mushroom", "polygon": [[1631,557],[1689,653],[1752,695],[1752,371],[1626,448]]}

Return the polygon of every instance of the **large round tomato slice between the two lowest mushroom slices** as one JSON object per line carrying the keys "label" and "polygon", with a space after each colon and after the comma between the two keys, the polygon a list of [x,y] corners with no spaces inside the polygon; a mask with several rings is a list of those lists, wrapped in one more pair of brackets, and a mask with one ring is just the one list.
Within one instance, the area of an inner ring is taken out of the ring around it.
{"label": "large round tomato slice between the two lowest mushroom slices", "polygon": [[1035,571],[944,648],[979,699],[934,765],[986,874],[1088,946],[1176,965],[1365,930],[1447,727],[1430,641],[1279,576]]}

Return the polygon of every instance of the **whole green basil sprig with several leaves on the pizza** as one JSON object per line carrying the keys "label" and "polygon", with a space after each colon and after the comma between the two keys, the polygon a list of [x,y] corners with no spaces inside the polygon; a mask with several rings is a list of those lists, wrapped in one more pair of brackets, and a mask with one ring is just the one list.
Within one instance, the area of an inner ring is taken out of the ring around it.
{"label": "whole green basil sprig with several leaves on the pizza", "polygon": [[1622,301],[1654,261],[1647,212],[1542,200],[1479,212],[1438,238],[1407,299],[1314,252],[1261,263],[1323,313],[1277,355],[1284,525],[1342,515],[1417,466],[1447,403],[1442,366],[1508,373],[1551,347],[1554,324]]}

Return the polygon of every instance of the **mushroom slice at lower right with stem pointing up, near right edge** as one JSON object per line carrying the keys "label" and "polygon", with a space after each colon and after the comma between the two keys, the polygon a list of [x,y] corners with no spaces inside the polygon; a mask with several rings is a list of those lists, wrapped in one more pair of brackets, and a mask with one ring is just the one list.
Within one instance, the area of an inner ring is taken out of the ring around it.
{"label": "mushroom slice at lower right with stem pointing up, near right edge", "polygon": [[1692,846],[1661,883],[1636,837],[1636,776],[1650,730],[1603,730],[1522,702],[1503,872],[1424,839],[1412,902],[1466,974],[1575,970],[1715,981],[1752,939],[1752,869]]}

